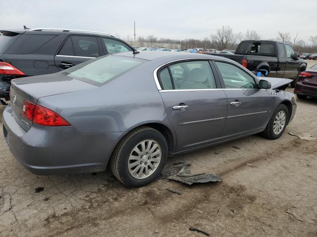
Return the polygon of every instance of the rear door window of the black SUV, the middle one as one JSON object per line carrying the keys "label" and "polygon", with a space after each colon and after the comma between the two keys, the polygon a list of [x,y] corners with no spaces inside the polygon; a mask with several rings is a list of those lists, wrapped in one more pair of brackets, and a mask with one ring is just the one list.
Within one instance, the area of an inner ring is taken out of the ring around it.
{"label": "rear door window of the black SUV, the middle one", "polygon": [[72,36],[71,40],[73,43],[75,56],[92,58],[100,56],[96,37]]}

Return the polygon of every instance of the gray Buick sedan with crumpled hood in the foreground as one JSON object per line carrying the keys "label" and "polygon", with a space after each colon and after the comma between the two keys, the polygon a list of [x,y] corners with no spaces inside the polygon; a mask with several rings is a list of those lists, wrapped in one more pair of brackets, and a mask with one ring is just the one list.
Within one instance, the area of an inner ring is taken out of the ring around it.
{"label": "gray Buick sedan with crumpled hood in the foreground", "polygon": [[120,53],[11,83],[4,138],[39,175],[96,172],[155,180],[167,157],[260,133],[279,138],[296,104],[289,79],[258,79],[226,58]]}

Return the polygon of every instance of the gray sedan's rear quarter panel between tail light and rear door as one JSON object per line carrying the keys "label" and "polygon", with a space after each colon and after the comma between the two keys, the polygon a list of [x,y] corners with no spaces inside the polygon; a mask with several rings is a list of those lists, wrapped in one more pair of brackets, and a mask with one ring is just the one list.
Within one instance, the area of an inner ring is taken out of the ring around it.
{"label": "gray sedan's rear quarter panel between tail light and rear door", "polygon": [[38,104],[56,111],[82,134],[126,132],[151,122],[173,131],[153,71],[151,62],[145,63],[100,87],[42,97]]}

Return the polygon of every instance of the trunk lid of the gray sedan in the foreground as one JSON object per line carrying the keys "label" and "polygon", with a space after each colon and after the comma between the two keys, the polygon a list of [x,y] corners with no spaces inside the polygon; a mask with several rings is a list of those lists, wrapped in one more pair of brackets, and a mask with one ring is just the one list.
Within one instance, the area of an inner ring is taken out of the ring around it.
{"label": "trunk lid of the gray sedan in the foreground", "polygon": [[97,86],[60,73],[13,79],[10,88],[12,116],[23,129],[28,131],[33,122],[22,115],[22,107],[25,100],[36,104],[41,97],[93,89],[95,87]]}

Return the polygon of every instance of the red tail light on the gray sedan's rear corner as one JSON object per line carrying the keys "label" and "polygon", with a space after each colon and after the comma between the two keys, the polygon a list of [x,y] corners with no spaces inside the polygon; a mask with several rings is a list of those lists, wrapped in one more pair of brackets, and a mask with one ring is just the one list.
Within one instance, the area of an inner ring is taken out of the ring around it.
{"label": "red tail light on the gray sedan's rear corner", "polygon": [[33,104],[27,100],[23,102],[22,115],[25,118],[44,126],[70,125],[64,118],[56,114],[54,111],[43,106]]}

